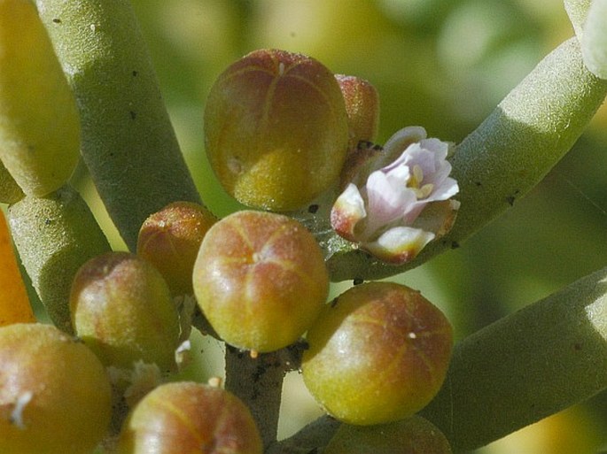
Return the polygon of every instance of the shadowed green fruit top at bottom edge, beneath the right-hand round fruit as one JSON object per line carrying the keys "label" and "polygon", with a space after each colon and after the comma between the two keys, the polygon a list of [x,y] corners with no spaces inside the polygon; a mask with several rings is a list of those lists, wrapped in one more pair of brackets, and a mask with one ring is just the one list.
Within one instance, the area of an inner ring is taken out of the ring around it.
{"label": "shadowed green fruit top at bottom edge, beneath the right-hand round fruit", "polygon": [[323,454],[451,454],[445,435],[427,419],[407,419],[377,426],[342,424]]}

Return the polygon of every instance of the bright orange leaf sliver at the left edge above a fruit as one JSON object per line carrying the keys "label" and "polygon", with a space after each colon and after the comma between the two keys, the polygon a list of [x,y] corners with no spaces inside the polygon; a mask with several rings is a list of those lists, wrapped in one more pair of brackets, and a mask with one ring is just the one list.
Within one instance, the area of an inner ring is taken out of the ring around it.
{"label": "bright orange leaf sliver at the left edge above a fruit", "polygon": [[0,327],[34,321],[34,312],[12,249],[11,234],[4,213],[0,212]]}

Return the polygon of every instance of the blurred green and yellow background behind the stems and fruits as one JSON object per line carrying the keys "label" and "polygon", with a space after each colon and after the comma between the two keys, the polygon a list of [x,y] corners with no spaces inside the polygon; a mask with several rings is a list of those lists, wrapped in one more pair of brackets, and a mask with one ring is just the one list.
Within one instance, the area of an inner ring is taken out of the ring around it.
{"label": "blurred green and yellow background behind the stems and fruits", "polygon": [[[258,48],[302,52],[365,78],[381,99],[377,142],[424,126],[460,142],[572,27],[558,0],[132,0],[183,153],[217,215],[237,209],[204,155],[202,116],[215,77]],[[243,146],[246,146],[244,143]],[[420,289],[457,338],[607,265],[607,109],[548,177],[458,250],[393,278]],[[533,150],[529,150],[533,153]],[[113,235],[82,172],[79,181]],[[338,292],[349,283],[335,287]],[[212,351],[212,341],[198,339]],[[212,355],[201,360],[209,372]],[[221,370],[216,373],[221,373]],[[475,373],[471,371],[471,373]],[[297,374],[285,385],[281,433],[318,409]],[[607,450],[607,396],[482,450],[594,454]]]}

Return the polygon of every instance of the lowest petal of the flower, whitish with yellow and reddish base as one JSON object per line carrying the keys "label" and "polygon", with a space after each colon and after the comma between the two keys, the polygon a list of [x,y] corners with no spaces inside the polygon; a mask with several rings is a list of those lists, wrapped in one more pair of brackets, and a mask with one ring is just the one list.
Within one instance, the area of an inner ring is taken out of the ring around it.
{"label": "lowest petal of the flower, whitish with yellow and reddish base", "polygon": [[402,265],[416,258],[420,250],[434,239],[432,232],[414,227],[393,227],[379,236],[374,242],[361,245],[380,260]]}

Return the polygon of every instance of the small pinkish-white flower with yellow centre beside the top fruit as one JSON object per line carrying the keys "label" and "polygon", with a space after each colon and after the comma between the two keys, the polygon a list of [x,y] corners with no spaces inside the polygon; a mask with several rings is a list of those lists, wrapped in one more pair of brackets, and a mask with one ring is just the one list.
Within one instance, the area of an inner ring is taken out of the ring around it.
{"label": "small pinkish-white flower with yellow centre beside the top fruit", "polygon": [[449,177],[449,144],[426,138],[423,127],[405,127],[384,151],[360,168],[331,211],[331,227],[388,263],[415,258],[453,225],[459,191]]}

